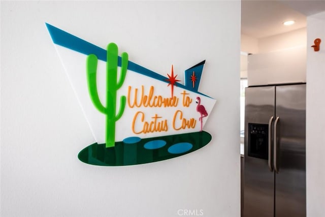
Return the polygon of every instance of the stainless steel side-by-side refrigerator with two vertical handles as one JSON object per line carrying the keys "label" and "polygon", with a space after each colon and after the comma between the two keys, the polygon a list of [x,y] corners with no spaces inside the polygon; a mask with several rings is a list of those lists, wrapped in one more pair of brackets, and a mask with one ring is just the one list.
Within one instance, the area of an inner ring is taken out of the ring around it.
{"label": "stainless steel side-by-side refrigerator with two vertical handles", "polygon": [[244,217],[306,216],[306,84],[245,90]]}

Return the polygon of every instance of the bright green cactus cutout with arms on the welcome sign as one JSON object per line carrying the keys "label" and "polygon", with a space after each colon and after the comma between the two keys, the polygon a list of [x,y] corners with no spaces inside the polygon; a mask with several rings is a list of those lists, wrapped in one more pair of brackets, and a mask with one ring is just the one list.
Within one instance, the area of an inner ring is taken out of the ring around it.
{"label": "bright green cactus cutout with arms on the welcome sign", "polygon": [[90,54],[87,57],[87,84],[89,95],[96,109],[106,115],[106,147],[115,146],[115,122],[122,116],[125,108],[126,97],[121,96],[120,109],[116,115],[116,91],[124,82],[128,63],[127,53],[122,53],[121,57],[121,72],[119,81],[117,81],[118,48],[114,43],[107,45],[106,106],[103,106],[101,103],[97,90],[96,72],[98,58],[94,54]]}

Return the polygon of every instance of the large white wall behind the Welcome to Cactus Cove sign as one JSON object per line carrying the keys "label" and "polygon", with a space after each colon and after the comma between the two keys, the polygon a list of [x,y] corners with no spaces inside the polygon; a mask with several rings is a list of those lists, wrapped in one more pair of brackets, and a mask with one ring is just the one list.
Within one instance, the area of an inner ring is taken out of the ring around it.
{"label": "large white wall behind the Welcome to Cactus Cove sign", "polygon": [[[93,138],[44,22],[103,48],[113,41],[164,75],[206,59],[211,143],[145,165],[81,163]],[[1,216],[240,215],[239,1],[2,1],[1,32]]]}

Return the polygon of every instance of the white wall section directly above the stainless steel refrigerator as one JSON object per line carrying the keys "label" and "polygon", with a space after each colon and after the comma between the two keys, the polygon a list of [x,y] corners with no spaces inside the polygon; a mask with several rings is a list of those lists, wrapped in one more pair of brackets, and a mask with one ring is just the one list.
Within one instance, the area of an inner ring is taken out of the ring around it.
{"label": "white wall section directly above the stainless steel refrigerator", "polygon": [[248,85],[306,82],[306,41],[306,28],[257,39],[258,52],[248,56]]}

